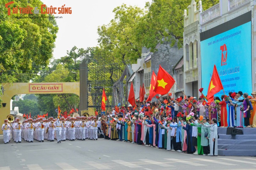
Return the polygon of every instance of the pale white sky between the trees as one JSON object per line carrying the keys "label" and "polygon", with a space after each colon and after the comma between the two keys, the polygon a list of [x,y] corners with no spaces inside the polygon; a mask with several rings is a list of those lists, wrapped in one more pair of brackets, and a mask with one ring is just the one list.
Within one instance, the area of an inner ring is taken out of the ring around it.
{"label": "pale white sky between the trees", "polygon": [[67,50],[95,47],[98,45],[97,28],[108,24],[114,18],[113,9],[122,4],[136,5],[144,8],[151,0],[41,0],[50,7],[71,7],[72,14],[54,14],[59,31],[55,41],[53,58],[58,59],[67,54]]}

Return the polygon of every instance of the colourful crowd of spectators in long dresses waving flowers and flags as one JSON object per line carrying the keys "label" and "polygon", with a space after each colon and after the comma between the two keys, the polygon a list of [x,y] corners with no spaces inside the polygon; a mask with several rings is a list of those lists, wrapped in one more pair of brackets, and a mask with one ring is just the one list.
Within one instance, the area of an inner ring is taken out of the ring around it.
{"label": "colourful crowd of spectators in long dresses waving flowers and flags", "polygon": [[256,127],[256,91],[229,96],[180,96],[157,102],[120,104],[101,120],[106,139],[157,147],[168,151],[218,155],[218,127]]}

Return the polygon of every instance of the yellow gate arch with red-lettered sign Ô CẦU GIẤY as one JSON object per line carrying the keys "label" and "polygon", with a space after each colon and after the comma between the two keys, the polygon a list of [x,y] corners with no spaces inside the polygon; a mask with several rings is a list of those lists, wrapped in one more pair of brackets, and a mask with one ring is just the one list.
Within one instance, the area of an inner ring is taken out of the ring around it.
{"label": "yellow gate arch with red-lettered sign \u00d4 C\u1ea6U GI\u1ea4Y", "polygon": [[[4,122],[6,116],[10,114],[10,101],[17,94],[60,94],[74,93],[80,96],[79,82],[57,82],[57,83],[13,83],[4,84],[4,94],[2,95],[3,106],[0,107],[0,124]],[[5,104],[4,104],[5,103]],[[0,134],[3,131],[0,129]]]}

